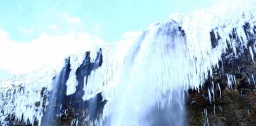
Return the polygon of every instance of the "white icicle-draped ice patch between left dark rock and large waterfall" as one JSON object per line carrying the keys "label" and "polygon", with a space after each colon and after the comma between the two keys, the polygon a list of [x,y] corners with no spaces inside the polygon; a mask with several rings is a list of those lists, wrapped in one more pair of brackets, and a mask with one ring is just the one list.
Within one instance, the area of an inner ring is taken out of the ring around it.
{"label": "white icicle-draped ice patch between left dark rock and large waterfall", "polygon": [[[84,81],[84,100],[94,97],[105,88],[111,86],[110,80],[112,80],[114,76],[117,76],[123,63],[122,57],[124,56],[121,53],[124,54],[125,50],[120,49],[124,48],[119,48],[118,45],[108,45],[102,50],[103,64],[101,67],[91,72],[87,84],[86,81]],[[96,55],[93,57],[96,57]]]}

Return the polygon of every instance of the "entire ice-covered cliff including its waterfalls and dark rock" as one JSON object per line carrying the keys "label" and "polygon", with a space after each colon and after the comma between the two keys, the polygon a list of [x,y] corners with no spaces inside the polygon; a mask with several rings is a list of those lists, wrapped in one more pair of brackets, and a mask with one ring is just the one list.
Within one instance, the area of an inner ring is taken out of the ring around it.
{"label": "entire ice-covered cliff including its waterfalls and dark rock", "polygon": [[2,81],[1,125],[255,125],[255,6],[172,14],[59,70]]}

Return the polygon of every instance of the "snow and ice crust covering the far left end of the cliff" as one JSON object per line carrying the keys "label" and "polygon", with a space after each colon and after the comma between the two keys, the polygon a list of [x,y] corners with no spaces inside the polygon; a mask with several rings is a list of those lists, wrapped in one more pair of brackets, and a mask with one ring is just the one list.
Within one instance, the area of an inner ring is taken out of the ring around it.
{"label": "snow and ice crust covering the far left end of the cliff", "polygon": [[[0,122],[6,123],[8,114],[14,114],[16,120],[29,120],[35,118],[40,122],[42,118],[42,87],[51,90],[51,79],[56,75],[56,70],[45,67],[30,74],[15,76],[0,84]],[[39,106],[35,102],[40,101]]]}

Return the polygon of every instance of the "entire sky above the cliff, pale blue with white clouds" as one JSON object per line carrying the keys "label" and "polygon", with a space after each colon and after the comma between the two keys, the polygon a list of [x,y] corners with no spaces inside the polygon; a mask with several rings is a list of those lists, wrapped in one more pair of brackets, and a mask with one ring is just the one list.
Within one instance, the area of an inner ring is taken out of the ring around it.
{"label": "entire sky above the cliff, pale blue with white clouds", "polygon": [[0,79],[58,64],[67,55],[112,43],[218,0],[0,0]]}

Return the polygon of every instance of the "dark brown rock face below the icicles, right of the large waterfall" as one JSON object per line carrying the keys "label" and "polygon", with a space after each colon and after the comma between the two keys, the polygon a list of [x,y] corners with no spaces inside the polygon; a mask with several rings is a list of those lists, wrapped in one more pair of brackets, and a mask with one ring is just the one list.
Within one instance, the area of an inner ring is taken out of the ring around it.
{"label": "dark brown rock face below the icicles, right of the large waterfall", "polygon": [[[256,59],[252,59],[250,54],[250,47],[255,45],[256,26],[245,23],[244,30],[249,49],[241,46],[243,49],[238,49],[236,57],[228,47],[219,62],[219,69],[214,69],[214,76],[209,77],[203,89],[199,93],[189,90],[186,101],[188,125],[256,124]],[[229,37],[241,45],[235,29]],[[212,37],[212,45],[215,45],[216,39]]]}

